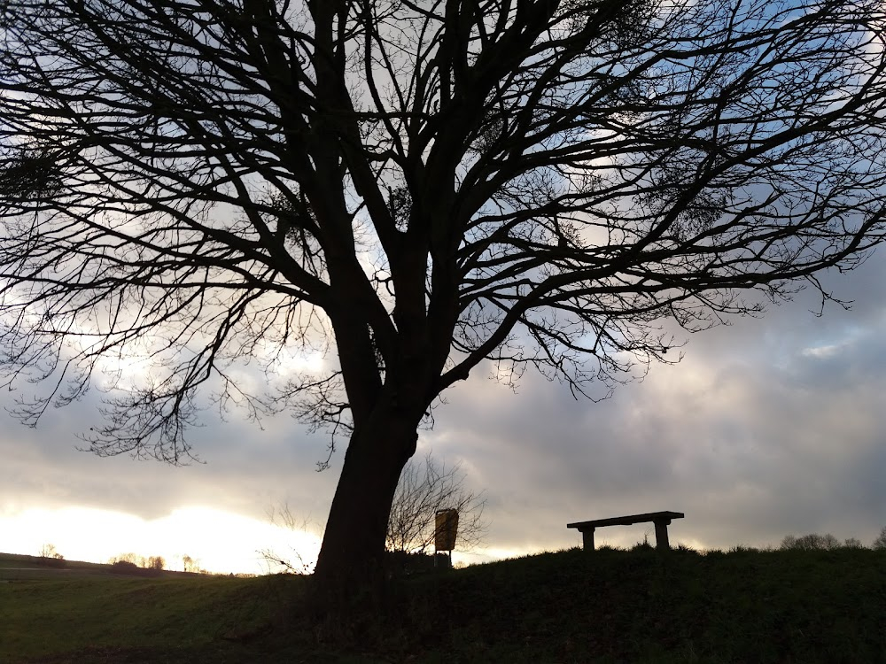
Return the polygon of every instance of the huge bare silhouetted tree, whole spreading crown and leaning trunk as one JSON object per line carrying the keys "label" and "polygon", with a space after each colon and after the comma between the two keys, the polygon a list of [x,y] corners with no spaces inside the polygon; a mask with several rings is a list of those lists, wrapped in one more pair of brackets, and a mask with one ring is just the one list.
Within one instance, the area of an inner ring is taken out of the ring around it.
{"label": "huge bare silhouetted tree, whole spreading crown and leaning trunk", "polygon": [[[485,359],[604,395],[682,342],[669,321],[758,312],[753,291],[819,288],[882,241],[883,20],[869,0],[12,0],[3,367],[51,385],[19,414],[141,358],[95,452],[187,458],[201,389],[344,432],[317,572],[365,575],[416,427]],[[315,352],[327,373],[238,380]]]}

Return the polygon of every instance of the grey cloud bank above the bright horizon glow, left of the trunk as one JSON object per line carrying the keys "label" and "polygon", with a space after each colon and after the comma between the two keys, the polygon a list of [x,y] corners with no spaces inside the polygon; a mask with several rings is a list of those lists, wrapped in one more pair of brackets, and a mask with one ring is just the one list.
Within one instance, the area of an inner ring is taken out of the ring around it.
{"label": "grey cloud bank above the bright horizon glow, left of the trunk", "polygon": [[203,461],[172,467],[128,455],[101,459],[77,449],[78,432],[96,421],[95,401],[50,411],[36,429],[0,418],[0,506],[87,506],[156,519],[180,506],[215,506],[264,519],[268,509],[298,503],[325,518],[336,478],[315,472],[326,440],[285,416],[264,428],[232,416],[207,417],[192,432]]}

